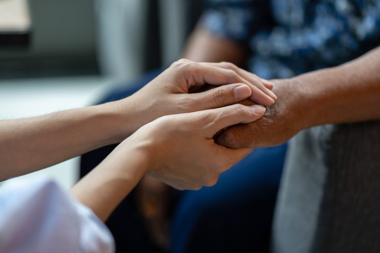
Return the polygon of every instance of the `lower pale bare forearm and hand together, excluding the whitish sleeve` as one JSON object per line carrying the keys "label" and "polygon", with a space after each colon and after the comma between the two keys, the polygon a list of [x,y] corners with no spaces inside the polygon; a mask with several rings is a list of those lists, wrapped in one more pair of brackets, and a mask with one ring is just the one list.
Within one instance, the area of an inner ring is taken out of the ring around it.
{"label": "lower pale bare forearm and hand together, excluding the whitish sleeve", "polygon": [[253,122],[264,112],[260,105],[237,104],[159,118],[119,144],[71,192],[104,221],[144,174],[177,189],[212,186],[222,172],[252,151],[217,145],[215,134]]}

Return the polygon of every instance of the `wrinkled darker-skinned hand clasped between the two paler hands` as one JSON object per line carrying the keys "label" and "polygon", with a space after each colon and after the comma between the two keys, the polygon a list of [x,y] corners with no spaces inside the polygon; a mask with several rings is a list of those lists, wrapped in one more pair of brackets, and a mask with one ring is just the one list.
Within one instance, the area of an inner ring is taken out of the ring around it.
{"label": "wrinkled darker-skinned hand clasped between the two paler hands", "polygon": [[[230,127],[216,137],[216,142],[229,148],[269,147],[286,142],[304,128],[307,113],[305,101],[297,85],[290,80],[273,80],[276,103],[267,108],[259,120]],[[244,100],[242,104],[252,104]]]}

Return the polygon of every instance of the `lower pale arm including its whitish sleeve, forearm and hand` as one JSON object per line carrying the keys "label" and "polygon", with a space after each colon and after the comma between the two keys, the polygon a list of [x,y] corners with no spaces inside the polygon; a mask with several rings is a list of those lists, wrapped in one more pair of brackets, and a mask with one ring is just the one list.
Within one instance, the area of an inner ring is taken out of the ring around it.
{"label": "lower pale arm including its whitish sleeve, forearm and hand", "polygon": [[106,220],[145,173],[178,189],[214,184],[251,151],[218,146],[214,134],[264,111],[232,105],[149,123],[72,188],[80,203],[46,178],[8,180],[0,187],[0,252],[114,252],[111,233],[95,215]]}

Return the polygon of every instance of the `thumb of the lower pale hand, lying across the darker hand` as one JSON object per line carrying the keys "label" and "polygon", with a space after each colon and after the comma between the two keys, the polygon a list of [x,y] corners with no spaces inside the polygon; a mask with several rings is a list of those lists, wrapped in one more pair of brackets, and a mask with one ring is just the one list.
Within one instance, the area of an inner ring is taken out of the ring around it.
{"label": "thumb of the lower pale hand, lying across the darker hand", "polygon": [[202,124],[206,126],[208,137],[212,138],[220,129],[260,119],[265,113],[265,107],[261,105],[244,106],[234,104],[199,113],[204,121]]}

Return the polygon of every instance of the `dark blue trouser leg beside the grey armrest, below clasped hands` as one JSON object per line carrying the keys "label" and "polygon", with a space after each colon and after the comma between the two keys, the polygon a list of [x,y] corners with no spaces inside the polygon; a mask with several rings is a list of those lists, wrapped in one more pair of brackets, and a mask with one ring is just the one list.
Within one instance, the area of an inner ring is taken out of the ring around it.
{"label": "dark blue trouser leg beside the grey armrest, below clasped hands", "polygon": [[267,252],[285,152],[255,149],[215,186],[182,192],[170,252]]}

